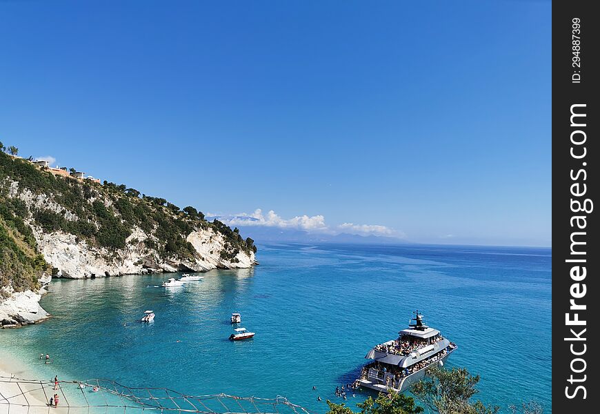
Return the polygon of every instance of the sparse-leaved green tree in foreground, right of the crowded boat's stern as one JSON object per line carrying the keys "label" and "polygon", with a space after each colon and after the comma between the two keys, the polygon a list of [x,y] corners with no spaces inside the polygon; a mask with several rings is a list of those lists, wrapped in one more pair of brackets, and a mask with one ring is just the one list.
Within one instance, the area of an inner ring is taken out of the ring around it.
{"label": "sparse-leaved green tree in foreground, right of the crowded boat's stern", "polygon": [[497,413],[498,406],[485,406],[479,400],[470,402],[470,398],[479,393],[475,388],[479,380],[479,375],[471,375],[466,368],[447,370],[434,366],[427,369],[427,376],[414,384],[410,391],[434,413]]}

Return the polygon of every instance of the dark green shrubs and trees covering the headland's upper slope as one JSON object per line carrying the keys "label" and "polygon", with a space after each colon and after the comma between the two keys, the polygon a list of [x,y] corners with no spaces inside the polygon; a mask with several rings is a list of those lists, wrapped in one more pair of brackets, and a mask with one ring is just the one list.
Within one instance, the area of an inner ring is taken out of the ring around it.
{"label": "dark green shrubs and trees covering the headland's upper slope", "polygon": [[[13,182],[21,198],[29,191],[33,201],[27,204],[11,195]],[[186,237],[208,228],[223,235],[222,259],[237,262],[239,252],[256,252],[252,239],[243,239],[220,221],[206,221],[192,206],[181,210],[123,184],[52,175],[0,150],[0,286],[10,282],[15,290],[34,288],[37,277],[48,271],[37,255],[30,224],[45,232],[70,233],[109,252],[126,247],[137,227],[150,236],[144,240],[146,248],[161,259],[193,259],[198,253]]]}

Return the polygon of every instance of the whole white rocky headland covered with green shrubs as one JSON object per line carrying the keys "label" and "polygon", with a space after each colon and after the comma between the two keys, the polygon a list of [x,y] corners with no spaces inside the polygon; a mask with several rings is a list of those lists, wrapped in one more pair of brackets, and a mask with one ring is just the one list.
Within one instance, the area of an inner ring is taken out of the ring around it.
{"label": "whole white rocky headland covered with green shrubs", "polygon": [[0,152],[0,325],[48,317],[52,277],[248,268],[252,239],[188,206],[112,183],[57,177]]}

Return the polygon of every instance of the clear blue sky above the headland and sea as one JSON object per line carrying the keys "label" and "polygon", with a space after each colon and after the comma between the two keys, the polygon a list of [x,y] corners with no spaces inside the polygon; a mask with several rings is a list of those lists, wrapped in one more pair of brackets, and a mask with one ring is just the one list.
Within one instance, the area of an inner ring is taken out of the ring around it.
{"label": "clear blue sky above the headland and sea", "polygon": [[550,246],[550,17],[516,0],[0,1],[0,141],[206,213]]}

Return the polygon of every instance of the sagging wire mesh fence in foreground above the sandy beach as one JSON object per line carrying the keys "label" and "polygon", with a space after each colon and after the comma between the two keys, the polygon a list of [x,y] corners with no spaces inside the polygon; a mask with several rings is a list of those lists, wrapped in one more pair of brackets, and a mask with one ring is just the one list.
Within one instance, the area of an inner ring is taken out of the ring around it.
{"label": "sagging wire mesh fence in foreground above the sandy beach", "polygon": [[[57,398],[58,397],[58,398]],[[52,401],[52,405],[50,402]],[[286,397],[186,395],[170,388],[133,388],[112,380],[23,380],[0,376],[0,414],[313,414]]]}

